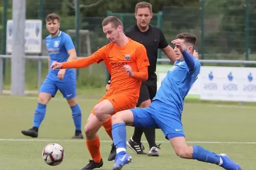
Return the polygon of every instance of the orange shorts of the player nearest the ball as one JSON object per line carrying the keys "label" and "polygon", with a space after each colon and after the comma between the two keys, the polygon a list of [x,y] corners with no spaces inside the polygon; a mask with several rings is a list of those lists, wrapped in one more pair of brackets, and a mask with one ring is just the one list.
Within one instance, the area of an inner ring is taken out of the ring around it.
{"label": "orange shorts of the player nearest the ball", "polygon": [[[108,100],[114,107],[114,113],[117,113],[122,110],[133,109],[135,108],[138,99],[131,95],[125,93],[122,94],[109,94],[106,93],[98,102],[100,103],[103,100]],[[91,111],[92,114],[95,114],[94,109]]]}

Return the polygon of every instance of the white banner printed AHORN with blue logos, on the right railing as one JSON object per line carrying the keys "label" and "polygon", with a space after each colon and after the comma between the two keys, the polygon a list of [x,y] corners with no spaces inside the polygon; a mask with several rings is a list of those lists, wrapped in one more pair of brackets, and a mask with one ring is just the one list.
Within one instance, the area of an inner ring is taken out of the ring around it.
{"label": "white banner printed AHORN with blue logos, on the right railing", "polygon": [[202,66],[200,99],[256,102],[256,68]]}

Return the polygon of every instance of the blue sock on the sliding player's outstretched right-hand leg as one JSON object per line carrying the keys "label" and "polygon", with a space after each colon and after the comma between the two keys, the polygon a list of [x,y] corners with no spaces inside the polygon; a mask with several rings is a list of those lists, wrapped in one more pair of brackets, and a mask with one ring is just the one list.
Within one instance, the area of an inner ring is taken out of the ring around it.
{"label": "blue sock on the sliding player's outstretched right-hand leg", "polygon": [[193,160],[198,160],[201,162],[207,162],[211,164],[220,164],[220,155],[213,153],[209,150],[204,149],[201,146],[192,146],[193,147]]}

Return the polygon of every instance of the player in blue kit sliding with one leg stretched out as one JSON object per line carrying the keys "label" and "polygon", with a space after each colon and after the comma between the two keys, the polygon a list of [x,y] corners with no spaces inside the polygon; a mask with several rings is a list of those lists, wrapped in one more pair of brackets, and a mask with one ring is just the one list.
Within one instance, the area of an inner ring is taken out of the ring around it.
{"label": "player in blue kit sliding with one leg stretched out", "polygon": [[181,123],[183,101],[197,80],[201,67],[199,60],[192,57],[196,40],[194,35],[183,33],[172,41],[177,61],[173,69],[168,71],[149,107],[124,110],[112,116],[112,135],[117,148],[113,170],[122,169],[132,160],[126,153],[125,125],[160,128],[181,158],[216,164],[226,170],[241,170],[226,154],[216,154],[186,143]]}

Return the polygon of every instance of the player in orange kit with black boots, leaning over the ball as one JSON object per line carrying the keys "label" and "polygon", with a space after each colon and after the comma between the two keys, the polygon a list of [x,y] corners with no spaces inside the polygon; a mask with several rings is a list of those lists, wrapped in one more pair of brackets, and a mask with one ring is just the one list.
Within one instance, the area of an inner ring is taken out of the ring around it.
{"label": "player in orange kit with black boots, leaning over the ball", "polygon": [[136,106],[142,81],[148,79],[149,61],[146,48],[123,33],[122,22],[109,16],[102,22],[103,32],[110,43],[95,51],[91,56],[70,62],[54,61],[52,68],[82,68],[93,63],[105,62],[111,75],[111,85],[106,94],[91,111],[85,125],[86,144],[92,160],[82,169],[103,166],[100,154],[98,130],[103,126],[112,138],[111,115]]}

